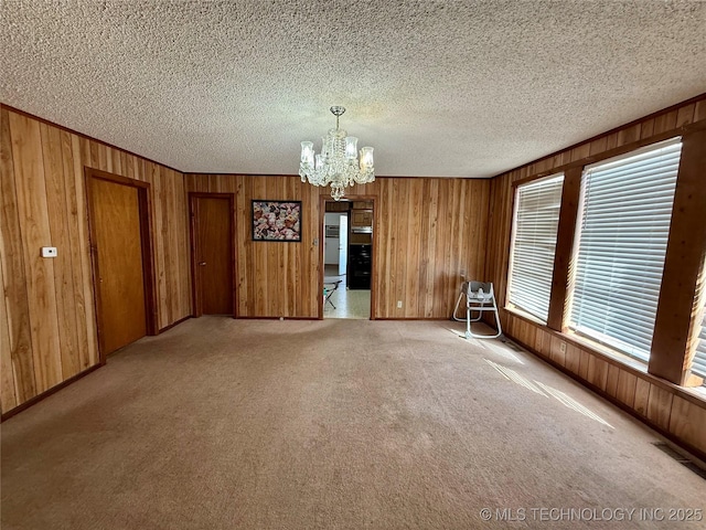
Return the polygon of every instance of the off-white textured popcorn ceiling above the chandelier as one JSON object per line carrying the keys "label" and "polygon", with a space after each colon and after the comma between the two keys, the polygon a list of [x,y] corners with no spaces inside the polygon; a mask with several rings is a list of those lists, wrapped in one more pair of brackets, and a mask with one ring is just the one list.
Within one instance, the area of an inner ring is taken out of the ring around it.
{"label": "off-white textured popcorn ceiling above the chandelier", "polygon": [[491,177],[706,92],[706,2],[0,0],[0,100],[183,171]]}

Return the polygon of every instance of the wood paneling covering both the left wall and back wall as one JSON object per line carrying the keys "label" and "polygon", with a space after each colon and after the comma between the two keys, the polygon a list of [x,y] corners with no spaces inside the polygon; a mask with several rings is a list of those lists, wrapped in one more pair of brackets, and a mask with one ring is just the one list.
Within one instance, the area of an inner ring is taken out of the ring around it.
{"label": "wood paneling covering both the left wall and back wall", "polygon": [[[234,193],[239,317],[318,318],[328,190],[296,177],[182,173],[15,112],[0,109],[0,280],[3,413],[98,362],[84,168],[151,184],[158,327],[191,315],[186,191]],[[375,199],[375,318],[448,318],[460,272],[485,267],[490,181],[378,179],[350,198]],[[254,243],[252,199],[302,201],[302,243]],[[317,242],[317,243],[314,243]],[[58,257],[41,258],[41,246]],[[398,309],[397,300],[403,300]]]}

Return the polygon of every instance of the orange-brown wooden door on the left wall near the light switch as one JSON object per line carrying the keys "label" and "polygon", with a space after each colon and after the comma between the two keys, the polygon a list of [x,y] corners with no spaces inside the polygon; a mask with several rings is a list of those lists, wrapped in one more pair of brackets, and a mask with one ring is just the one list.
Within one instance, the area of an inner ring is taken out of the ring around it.
{"label": "orange-brown wooden door on the left wall near the light switch", "polygon": [[90,213],[103,356],[147,335],[139,189],[92,179]]}

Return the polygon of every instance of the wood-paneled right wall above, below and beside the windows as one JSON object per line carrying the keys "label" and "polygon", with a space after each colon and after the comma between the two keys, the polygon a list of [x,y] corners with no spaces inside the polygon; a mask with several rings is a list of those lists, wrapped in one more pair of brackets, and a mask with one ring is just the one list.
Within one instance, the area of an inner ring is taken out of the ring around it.
{"label": "wood-paneled right wall above, below and beside the windows", "polygon": [[[486,276],[495,284],[499,304],[505,305],[513,182],[575,170],[599,159],[686,134],[702,127],[704,123],[706,96],[648,116],[493,179],[490,190]],[[699,192],[706,193],[706,186]],[[644,369],[614,361],[598,348],[573,341],[570,336],[531,319],[504,309],[501,310],[501,319],[509,337],[645,423],[680,441],[699,456],[706,455],[706,402],[702,398],[687,389],[648,374]],[[560,352],[561,342],[566,342],[565,353]]]}

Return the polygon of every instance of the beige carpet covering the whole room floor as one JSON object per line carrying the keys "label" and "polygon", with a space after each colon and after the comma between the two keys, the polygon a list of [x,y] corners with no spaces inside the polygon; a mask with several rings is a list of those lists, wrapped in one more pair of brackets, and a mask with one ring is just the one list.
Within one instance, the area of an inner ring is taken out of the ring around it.
{"label": "beige carpet covering the whole room floor", "polygon": [[462,329],[204,317],[142,339],[2,424],[2,529],[704,528],[644,520],[706,508],[654,433]]}

